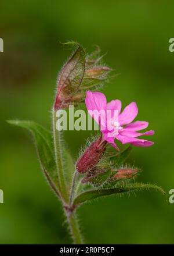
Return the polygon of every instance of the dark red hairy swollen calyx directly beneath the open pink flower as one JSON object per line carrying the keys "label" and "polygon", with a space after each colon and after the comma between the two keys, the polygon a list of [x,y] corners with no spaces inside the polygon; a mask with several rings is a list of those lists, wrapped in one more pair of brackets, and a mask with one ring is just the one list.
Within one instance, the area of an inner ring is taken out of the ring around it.
{"label": "dark red hairy swollen calyx directly beneath the open pink flower", "polygon": [[97,138],[90,146],[85,150],[84,154],[78,159],[76,169],[79,173],[88,172],[88,170],[94,168],[102,158],[104,151],[107,147],[107,141],[103,140],[102,135]]}

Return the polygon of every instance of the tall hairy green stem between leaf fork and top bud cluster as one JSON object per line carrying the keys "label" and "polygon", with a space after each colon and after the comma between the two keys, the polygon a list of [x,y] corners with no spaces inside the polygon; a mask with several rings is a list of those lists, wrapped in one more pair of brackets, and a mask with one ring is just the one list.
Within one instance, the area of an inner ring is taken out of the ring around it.
{"label": "tall hairy green stem between leaf fork and top bud cluster", "polygon": [[64,179],[63,173],[63,156],[62,156],[62,147],[60,131],[56,130],[56,111],[53,110],[53,137],[54,137],[54,145],[55,145],[55,158],[56,158],[56,166],[57,166],[57,174],[60,183],[60,193],[63,197],[64,201],[68,202],[68,193],[66,188],[66,182]]}

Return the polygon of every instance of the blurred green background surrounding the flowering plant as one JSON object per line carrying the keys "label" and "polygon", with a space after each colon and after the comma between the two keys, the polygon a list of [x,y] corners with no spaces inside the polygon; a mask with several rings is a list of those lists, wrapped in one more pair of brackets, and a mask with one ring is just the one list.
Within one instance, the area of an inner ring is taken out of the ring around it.
{"label": "blurred green background surrounding the flowering plant", "polygon": [[[88,52],[100,45],[118,77],[104,88],[108,101],[135,101],[139,120],[155,130],[155,144],[133,148],[143,168],[138,181],[174,189],[173,1],[1,1],[0,243],[70,243],[60,203],[39,167],[32,139],[7,119],[50,128],[57,73],[77,40]],[[74,157],[89,131],[71,131]],[[174,204],[156,191],[108,197],[78,211],[86,243],[173,243]]]}

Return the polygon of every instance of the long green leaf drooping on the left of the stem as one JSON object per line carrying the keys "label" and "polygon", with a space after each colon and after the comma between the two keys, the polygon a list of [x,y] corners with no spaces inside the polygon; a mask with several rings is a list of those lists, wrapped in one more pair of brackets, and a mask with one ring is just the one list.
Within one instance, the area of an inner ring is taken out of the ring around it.
{"label": "long green leaf drooping on the left of the stem", "polygon": [[59,190],[56,163],[53,152],[52,136],[48,130],[32,121],[9,120],[8,123],[29,130],[35,138],[39,162],[50,186],[56,194]]}

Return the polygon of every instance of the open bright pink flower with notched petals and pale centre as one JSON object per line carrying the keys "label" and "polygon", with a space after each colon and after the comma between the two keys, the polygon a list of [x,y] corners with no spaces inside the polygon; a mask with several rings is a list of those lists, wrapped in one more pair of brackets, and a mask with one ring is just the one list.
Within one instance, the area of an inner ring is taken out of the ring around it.
{"label": "open bright pink flower with notched petals and pale centre", "polygon": [[[114,140],[121,141],[122,144],[132,144],[137,147],[150,147],[153,141],[137,138],[142,135],[153,135],[154,131],[146,131],[145,133],[137,133],[137,131],[147,128],[148,122],[136,121],[131,123],[137,116],[138,109],[135,102],[131,102],[124,111],[121,112],[121,101],[115,99],[107,103],[103,93],[87,92],[85,98],[86,108],[92,118],[100,125],[100,131],[103,133],[103,139],[112,144],[118,151],[119,148]],[[92,111],[99,111],[99,118]],[[110,115],[107,115],[110,112]],[[115,122],[117,120],[117,122]],[[112,126],[110,126],[112,124]],[[103,129],[104,127],[104,129]]]}

